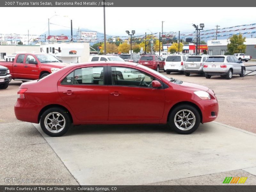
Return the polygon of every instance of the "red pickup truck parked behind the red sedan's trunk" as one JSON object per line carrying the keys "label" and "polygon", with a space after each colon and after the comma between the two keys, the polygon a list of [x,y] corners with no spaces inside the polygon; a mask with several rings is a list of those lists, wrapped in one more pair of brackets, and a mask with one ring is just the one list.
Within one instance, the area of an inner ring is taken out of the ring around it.
{"label": "red pickup truck parked behind the red sedan's trunk", "polygon": [[14,61],[0,62],[0,65],[10,70],[12,79],[25,82],[41,79],[68,64],[50,54],[20,53]]}

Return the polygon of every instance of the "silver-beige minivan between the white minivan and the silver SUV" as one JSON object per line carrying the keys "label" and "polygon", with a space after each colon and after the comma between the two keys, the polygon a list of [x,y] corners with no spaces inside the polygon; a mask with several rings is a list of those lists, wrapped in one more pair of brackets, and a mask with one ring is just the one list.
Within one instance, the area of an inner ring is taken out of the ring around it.
{"label": "silver-beige minivan between the white minivan and the silver SUV", "polygon": [[204,62],[208,57],[208,55],[188,56],[186,62],[184,62],[185,76],[189,76],[190,73],[204,74]]}

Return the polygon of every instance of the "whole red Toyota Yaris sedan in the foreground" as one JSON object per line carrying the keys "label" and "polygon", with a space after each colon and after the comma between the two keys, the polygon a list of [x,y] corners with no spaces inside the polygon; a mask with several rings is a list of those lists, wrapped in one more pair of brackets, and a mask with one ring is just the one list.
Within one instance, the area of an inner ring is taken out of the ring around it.
{"label": "whole red Toyota Yaris sedan in the foreground", "polygon": [[[125,78],[136,74],[138,79]],[[20,85],[15,115],[39,123],[50,136],[78,124],[169,124],[180,134],[218,115],[207,87],[168,78],[130,62],[69,65],[43,79]]]}

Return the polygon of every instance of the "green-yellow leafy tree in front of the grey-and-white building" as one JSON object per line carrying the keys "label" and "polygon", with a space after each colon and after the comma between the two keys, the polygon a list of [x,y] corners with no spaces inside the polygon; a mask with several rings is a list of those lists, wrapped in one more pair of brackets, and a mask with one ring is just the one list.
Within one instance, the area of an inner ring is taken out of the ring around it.
{"label": "green-yellow leafy tree in front of the grey-and-white building", "polygon": [[229,39],[230,43],[227,45],[228,52],[233,55],[234,53],[245,53],[246,45],[245,37],[240,33],[239,35],[233,35]]}

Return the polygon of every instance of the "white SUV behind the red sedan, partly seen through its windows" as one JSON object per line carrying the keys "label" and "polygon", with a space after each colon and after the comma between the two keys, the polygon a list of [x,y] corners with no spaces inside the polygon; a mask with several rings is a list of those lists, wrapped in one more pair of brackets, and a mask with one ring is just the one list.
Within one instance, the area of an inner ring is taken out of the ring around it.
{"label": "white SUV behind the red sedan, partly seen through its windows", "polygon": [[[89,58],[89,61],[124,61],[122,58],[114,55],[97,55],[97,56],[91,56]],[[144,77],[143,74],[134,72],[133,70],[126,70],[122,71],[122,68],[120,68],[121,71],[117,72],[117,79],[130,79],[130,80],[140,80]],[[100,72],[98,72],[98,76],[100,76]],[[95,74],[94,74],[95,76]]]}

